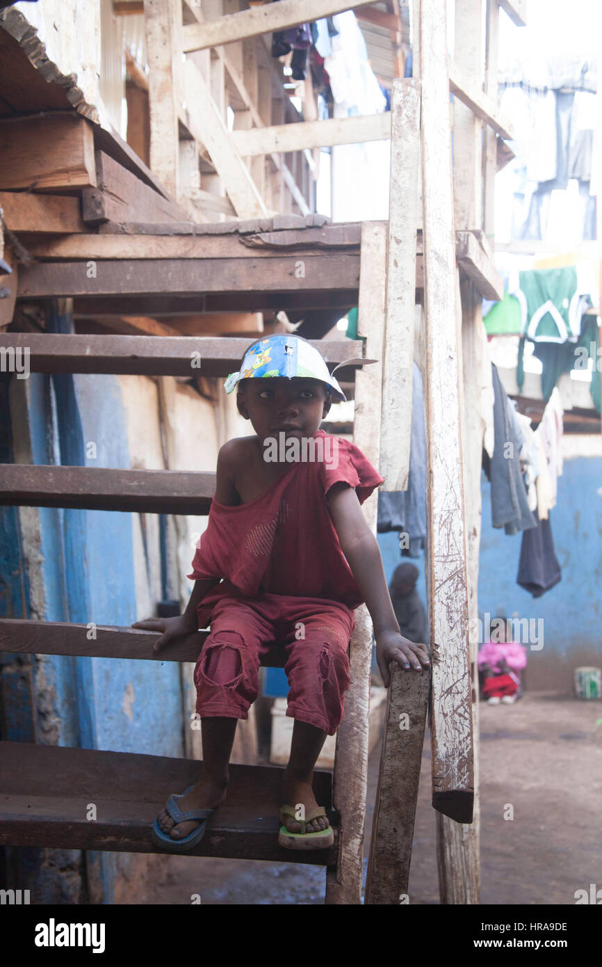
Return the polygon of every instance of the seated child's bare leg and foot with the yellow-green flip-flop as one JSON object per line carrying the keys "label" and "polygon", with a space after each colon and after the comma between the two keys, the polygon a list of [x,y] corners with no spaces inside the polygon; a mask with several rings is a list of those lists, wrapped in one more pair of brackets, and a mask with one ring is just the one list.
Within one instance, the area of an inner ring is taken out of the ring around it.
{"label": "seated child's bare leg and foot with the yellow-green flip-flop", "polygon": [[[315,809],[319,804],[313,794],[311,786],[313,769],[320,751],[324,746],[327,733],[315,725],[300,722],[295,719],[291,754],[288,765],[284,770],[284,801],[289,806],[305,806],[305,812]],[[284,817],[284,825],[291,833],[301,833],[301,823],[291,816]],[[330,823],[326,816],[320,816],[307,823],[307,833],[317,833],[326,830]]]}

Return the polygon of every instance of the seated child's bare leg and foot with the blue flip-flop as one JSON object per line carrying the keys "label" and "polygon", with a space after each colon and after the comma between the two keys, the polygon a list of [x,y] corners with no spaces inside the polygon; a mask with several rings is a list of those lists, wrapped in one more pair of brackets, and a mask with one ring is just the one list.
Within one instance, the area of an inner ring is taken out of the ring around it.
{"label": "seated child's bare leg and foot with the blue flip-flop", "polygon": [[[187,809],[215,809],[226,798],[230,755],[234,743],[238,718],[202,718],[203,771],[190,792],[178,800],[183,812]],[[159,812],[158,825],[163,833],[171,834],[172,839],[183,839],[199,825],[194,820],[174,823],[163,809]]]}

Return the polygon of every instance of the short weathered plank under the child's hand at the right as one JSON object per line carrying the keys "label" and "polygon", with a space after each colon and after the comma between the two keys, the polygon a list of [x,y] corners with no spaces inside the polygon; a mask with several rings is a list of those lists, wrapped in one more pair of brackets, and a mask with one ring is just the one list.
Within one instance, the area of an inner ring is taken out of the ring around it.
{"label": "short weathered plank under the child's hand at the right", "polygon": [[365,904],[394,905],[408,894],[430,673],[391,663]]}

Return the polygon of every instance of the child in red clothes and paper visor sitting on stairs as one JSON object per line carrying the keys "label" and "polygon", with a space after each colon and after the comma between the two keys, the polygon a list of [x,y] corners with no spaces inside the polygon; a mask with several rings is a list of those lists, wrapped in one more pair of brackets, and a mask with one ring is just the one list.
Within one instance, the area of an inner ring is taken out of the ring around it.
{"label": "child in red clothes and paper visor sitting on stairs", "polygon": [[313,769],[343,718],[354,609],[365,601],[370,612],[386,686],[391,660],[420,672],[428,649],[399,633],[379,547],[360,509],[383,478],[358,447],[319,429],[331,396],[345,399],[320,353],[301,337],[263,338],[224,385],[228,393],[238,387],[239,412],[255,433],[219,451],[185,613],[132,626],[161,631],[161,649],[211,621],[194,671],[202,772],[183,795],[169,797],[153,835],[162,848],[186,852],[204,834],[226,796],[237,719],[247,718],[257,697],[261,656],[281,642],[295,725],[278,842],[326,848],[333,835],[313,795]]}

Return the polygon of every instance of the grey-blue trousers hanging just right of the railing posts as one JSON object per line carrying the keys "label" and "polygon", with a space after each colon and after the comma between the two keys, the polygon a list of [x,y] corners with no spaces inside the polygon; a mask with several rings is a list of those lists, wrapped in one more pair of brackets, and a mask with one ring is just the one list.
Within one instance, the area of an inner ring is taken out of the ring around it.
{"label": "grey-blue trousers hanging just right of the railing posts", "polygon": [[521,473],[519,454],[523,437],[520,423],[516,420],[494,364],[492,381],[495,432],[490,463],[492,524],[494,527],[503,527],[506,534],[517,534],[536,526]]}

